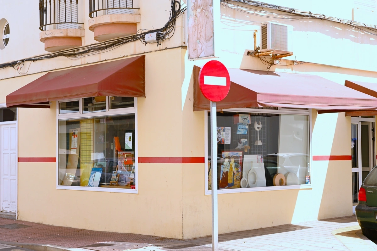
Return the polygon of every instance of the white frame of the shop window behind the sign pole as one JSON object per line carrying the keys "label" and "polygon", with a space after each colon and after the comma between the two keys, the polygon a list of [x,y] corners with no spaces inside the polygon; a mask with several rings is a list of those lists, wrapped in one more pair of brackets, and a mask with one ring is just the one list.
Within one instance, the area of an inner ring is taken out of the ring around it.
{"label": "white frame of the shop window behind the sign pole", "polygon": [[[313,155],[311,149],[311,136],[312,136],[312,109],[288,109],[281,108],[277,110],[272,109],[249,109],[249,108],[236,108],[224,109],[223,112],[247,112],[247,113],[269,113],[269,114],[287,114],[287,115],[307,115],[309,116],[309,158],[310,158],[310,184],[302,185],[289,185],[289,186],[273,186],[273,187],[248,187],[248,188],[234,188],[234,189],[218,189],[218,194],[226,193],[248,193],[257,191],[275,191],[275,190],[291,190],[291,189],[310,189],[313,188],[312,169],[313,169]],[[208,111],[204,112],[204,194],[211,195],[212,191],[208,190]]]}

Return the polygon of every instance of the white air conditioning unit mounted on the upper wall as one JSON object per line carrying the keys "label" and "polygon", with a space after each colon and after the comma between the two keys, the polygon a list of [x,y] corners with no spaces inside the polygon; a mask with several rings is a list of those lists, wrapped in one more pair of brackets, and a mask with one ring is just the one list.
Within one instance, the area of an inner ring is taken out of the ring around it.
{"label": "white air conditioning unit mounted on the upper wall", "polygon": [[261,24],[260,52],[275,51],[276,54],[285,54],[293,51],[293,26],[274,22]]}

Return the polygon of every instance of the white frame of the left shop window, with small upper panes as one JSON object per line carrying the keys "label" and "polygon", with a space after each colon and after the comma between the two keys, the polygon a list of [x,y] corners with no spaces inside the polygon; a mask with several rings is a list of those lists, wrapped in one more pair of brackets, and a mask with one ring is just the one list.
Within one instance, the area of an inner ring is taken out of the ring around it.
{"label": "white frame of the left shop window, with small upper panes", "polygon": [[[88,97],[90,98],[90,97]],[[59,104],[68,102],[68,101],[79,101],[79,112],[75,113],[63,113],[59,114]],[[118,108],[118,109],[109,109],[110,102],[109,96],[106,96],[106,111],[103,112],[90,112],[82,113],[82,102],[83,98],[74,98],[74,99],[64,99],[56,102],[56,189],[62,190],[79,190],[79,191],[102,191],[102,192],[114,192],[114,193],[133,193],[138,194],[139,186],[139,175],[138,175],[138,114],[137,114],[137,98],[134,98],[134,106],[129,108]],[[61,119],[81,119],[81,118],[92,118],[92,117],[101,117],[101,116],[113,116],[113,115],[127,115],[135,114],[135,189],[127,188],[112,188],[112,187],[78,187],[78,186],[64,186],[59,185],[59,167],[58,167],[58,151],[59,151],[59,120]]]}

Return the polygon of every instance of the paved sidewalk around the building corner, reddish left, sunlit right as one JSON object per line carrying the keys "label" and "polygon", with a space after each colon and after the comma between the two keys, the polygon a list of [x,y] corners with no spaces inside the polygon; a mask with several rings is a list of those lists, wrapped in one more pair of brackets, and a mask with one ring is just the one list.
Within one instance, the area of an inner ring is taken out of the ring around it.
{"label": "paved sidewalk around the building corner, reddish left, sunlit right", "polygon": [[[0,218],[1,243],[36,251],[210,251],[211,241],[211,237],[183,241],[140,234],[55,227]],[[221,234],[219,249],[377,251],[377,245],[362,235],[355,216],[351,216]],[[2,250],[0,246],[0,251],[8,250]]]}

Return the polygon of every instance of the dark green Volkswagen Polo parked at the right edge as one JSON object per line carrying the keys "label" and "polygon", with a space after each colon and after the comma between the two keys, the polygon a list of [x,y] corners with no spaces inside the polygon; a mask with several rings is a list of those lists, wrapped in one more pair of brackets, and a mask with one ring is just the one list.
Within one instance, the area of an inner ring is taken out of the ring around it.
{"label": "dark green Volkswagen Polo parked at the right edge", "polygon": [[377,236],[377,168],[366,176],[359,190],[356,219],[366,237]]}

